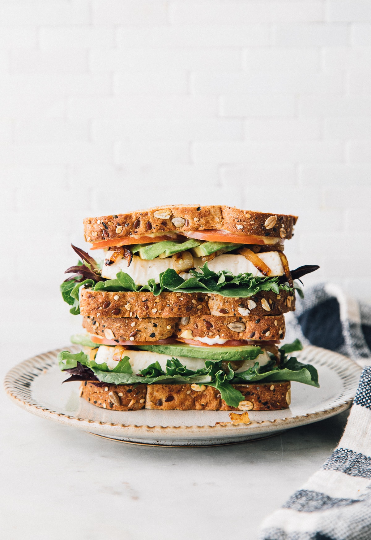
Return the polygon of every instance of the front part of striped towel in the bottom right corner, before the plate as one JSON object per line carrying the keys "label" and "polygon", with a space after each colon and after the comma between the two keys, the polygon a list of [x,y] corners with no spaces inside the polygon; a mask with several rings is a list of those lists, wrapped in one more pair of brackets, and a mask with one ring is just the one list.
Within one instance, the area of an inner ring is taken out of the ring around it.
{"label": "front part of striped towel in the bottom right corner, before the plate", "polygon": [[363,368],[339,446],[262,525],[261,540],[371,539],[371,367]]}

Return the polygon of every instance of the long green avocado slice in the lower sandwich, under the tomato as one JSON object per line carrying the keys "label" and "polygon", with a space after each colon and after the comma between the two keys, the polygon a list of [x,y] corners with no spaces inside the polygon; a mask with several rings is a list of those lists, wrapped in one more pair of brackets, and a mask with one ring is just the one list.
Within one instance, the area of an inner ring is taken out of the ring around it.
{"label": "long green avocado slice in the lower sandwich, under the tomato", "polygon": [[188,343],[175,345],[138,345],[140,350],[151,350],[153,353],[187,356],[189,358],[204,358],[205,360],[255,360],[263,351],[256,345],[244,345],[242,347],[197,347]]}

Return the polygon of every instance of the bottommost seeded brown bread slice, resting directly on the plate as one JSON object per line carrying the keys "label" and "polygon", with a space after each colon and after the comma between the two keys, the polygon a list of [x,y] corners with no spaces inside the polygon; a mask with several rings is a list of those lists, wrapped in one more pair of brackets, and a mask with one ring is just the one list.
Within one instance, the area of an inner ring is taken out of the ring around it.
{"label": "bottommost seeded brown bread slice, resting directly on the plate", "polygon": [[244,396],[230,407],[216,388],[202,384],[104,384],[83,381],[80,396],[111,410],[280,410],[291,402],[290,381],[233,384]]}

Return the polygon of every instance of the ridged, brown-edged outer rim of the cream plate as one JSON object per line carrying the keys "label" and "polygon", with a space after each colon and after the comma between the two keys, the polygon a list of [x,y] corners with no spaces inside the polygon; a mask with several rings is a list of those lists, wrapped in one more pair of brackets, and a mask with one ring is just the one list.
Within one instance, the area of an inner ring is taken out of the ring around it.
{"label": "ridged, brown-edged outer rim of the cream plate", "polygon": [[[278,429],[284,430],[284,429],[290,429],[299,425],[303,425],[303,423],[309,424],[309,423],[317,422],[321,420],[322,417],[328,418],[328,417],[341,413],[343,410],[348,409],[351,406],[353,397],[354,397],[354,396],[345,397],[343,401],[336,404],[335,406],[329,406],[329,407],[326,407],[326,409],[314,411],[312,413],[298,414],[296,416],[289,416],[289,417],[278,418],[274,420],[262,420],[262,421],[253,420],[249,424],[242,424],[242,425],[239,424],[238,426],[235,426],[233,424],[228,424],[226,426],[220,426],[220,425],[210,426],[209,424],[205,424],[203,426],[198,426],[198,425],[196,426],[160,426],[160,425],[148,426],[146,424],[142,424],[142,425],[122,424],[122,423],[114,423],[114,422],[102,422],[98,420],[88,420],[88,419],[80,418],[73,415],[58,413],[57,411],[54,411],[47,407],[43,407],[40,404],[37,404],[32,401],[28,401],[23,396],[21,397],[19,395],[19,390],[15,388],[15,384],[17,382],[18,377],[19,376],[25,377],[24,373],[26,369],[29,370],[30,368],[33,368],[34,370],[38,369],[40,372],[43,372],[43,370],[45,369],[45,366],[43,367],[43,369],[40,368],[39,366],[37,366],[38,362],[43,363],[45,365],[46,360],[49,360],[50,363],[47,364],[48,369],[56,365],[57,354],[61,350],[70,350],[71,352],[76,352],[77,350],[80,350],[80,349],[77,346],[62,347],[62,348],[48,351],[46,353],[32,356],[31,358],[18,363],[16,366],[12,367],[9,370],[9,372],[5,375],[5,378],[4,378],[5,393],[20,408],[27,410],[30,413],[35,414],[36,416],[45,418],[47,420],[52,420],[54,422],[67,424],[73,427],[78,427],[80,429],[84,429],[85,431],[90,431],[90,432],[92,432],[92,430],[94,431],[99,430],[100,433],[102,433],[102,430],[103,430],[105,433],[107,434],[111,433],[113,435],[114,433],[116,433],[116,430],[119,428],[120,431],[121,430],[122,431],[134,430],[136,432],[140,431],[141,436],[143,437],[145,435],[143,431],[147,431],[147,433],[148,431],[153,432],[153,435],[155,435],[156,431],[160,431],[160,433],[163,433],[164,435],[166,435],[167,432],[174,431],[174,430],[175,431],[196,430],[201,435],[201,432],[204,432],[206,430],[208,431],[208,433],[205,434],[205,436],[210,435],[212,438],[214,438],[215,436],[219,436],[219,437],[223,437],[223,435],[226,436],[227,435],[226,431],[230,431],[231,429],[235,431],[235,436],[238,436],[238,434],[236,433],[236,429],[237,429],[238,431],[240,431],[239,435],[242,436],[243,433],[248,434],[250,432],[251,434],[253,434],[255,431],[262,430],[262,428],[265,431],[273,431],[273,430],[278,430]],[[324,354],[324,353],[331,353],[334,356],[338,356],[341,362],[348,363],[348,367],[353,368],[355,372],[358,371],[359,375],[361,374],[362,368],[354,360],[350,359],[347,356],[344,356],[340,353],[336,353],[329,349],[315,347],[313,345],[306,346],[304,348],[304,351],[308,351],[308,350],[309,351],[312,350],[314,354],[318,354],[318,355]],[[33,373],[33,375],[34,376],[32,378],[26,377],[26,379],[28,379],[28,383],[30,387],[31,387],[31,382],[35,380],[36,376],[38,376],[37,373]],[[125,436],[125,434],[122,433],[122,436]],[[140,436],[139,433],[138,433],[138,436]],[[197,437],[197,434],[194,433],[193,436]]]}

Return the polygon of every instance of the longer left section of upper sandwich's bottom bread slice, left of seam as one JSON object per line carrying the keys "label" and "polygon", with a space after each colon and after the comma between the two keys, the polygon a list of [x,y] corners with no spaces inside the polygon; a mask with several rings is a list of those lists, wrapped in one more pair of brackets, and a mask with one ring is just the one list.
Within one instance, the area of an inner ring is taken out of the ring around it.
{"label": "longer left section of upper sandwich's bottom bread slice, left of seam", "polygon": [[[205,294],[107,292],[81,289],[83,315],[102,317],[184,317],[210,313]],[[99,315],[98,315],[99,314]]]}

